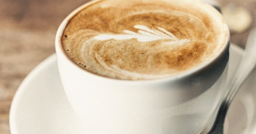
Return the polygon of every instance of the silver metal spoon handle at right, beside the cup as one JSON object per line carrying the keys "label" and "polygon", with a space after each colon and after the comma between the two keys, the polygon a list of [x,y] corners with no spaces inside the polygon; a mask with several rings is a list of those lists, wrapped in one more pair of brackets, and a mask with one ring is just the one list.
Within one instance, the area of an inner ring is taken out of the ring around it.
{"label": "silver metal spoon handle at right, beside the cup", "polygon": [[249,77],[250,73],[256,66],[256,28],[254,28],[247,39],[247,44],[244,50],[243,57],[239,63],[239,67],[234,75],[231,83],[227,84],[226,91],[224,92],[224,99],[221,101],[220,108],[218,109],[214,125],[208,134],[223,134],[224,121],[227,110],[241,88],[244,81]]}

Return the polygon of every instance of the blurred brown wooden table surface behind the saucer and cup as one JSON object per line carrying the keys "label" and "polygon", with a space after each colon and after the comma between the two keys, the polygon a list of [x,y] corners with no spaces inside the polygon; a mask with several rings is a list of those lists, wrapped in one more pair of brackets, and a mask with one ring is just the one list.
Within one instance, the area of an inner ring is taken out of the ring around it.
{"label": "blurred brown wooden table surface behind the saucer and cup", "polygon": [[[0,0],[0,134],[10,133],[9,108],[18,86],[38,63],[55,53],[59,24],[86,1]],[[256,0],[245,1],[254,12]],[[233,34],[232,42],[244,47],[248,32]]]}

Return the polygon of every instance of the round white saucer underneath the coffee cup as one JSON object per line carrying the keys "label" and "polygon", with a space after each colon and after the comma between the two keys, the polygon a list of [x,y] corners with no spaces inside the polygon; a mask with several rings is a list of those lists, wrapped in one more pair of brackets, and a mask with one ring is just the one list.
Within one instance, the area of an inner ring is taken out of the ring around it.
{"label": "round white saucer underneath the coffee cup", "polygon": [[[242,53],[241,48],[231,47],[229,78]],[[225,123],[228,124],[228,134],[256,134],[256,91],[252,90],[256,79],[253,77],[256,77],[255,72],[230,107],[228,123]],[[62,88],[55,54],[39,64],[20,85],[12,102],[9,121],[12,134],[76,133],[76,116]]]}

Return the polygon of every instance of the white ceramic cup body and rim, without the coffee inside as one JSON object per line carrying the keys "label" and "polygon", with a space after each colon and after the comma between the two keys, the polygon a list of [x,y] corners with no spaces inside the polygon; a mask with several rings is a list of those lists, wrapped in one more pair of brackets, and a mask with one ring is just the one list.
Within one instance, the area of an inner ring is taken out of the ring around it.
{"label": "white ceramic cup body and rim, without the coffee inside", "polygon": [[116,80],[77,66],[61,47],[73,11],[60,25],[55,47],[61,81],[83,134],[198,134],[221,100],[230,37],[215,57],[189,72],[158,80]]}

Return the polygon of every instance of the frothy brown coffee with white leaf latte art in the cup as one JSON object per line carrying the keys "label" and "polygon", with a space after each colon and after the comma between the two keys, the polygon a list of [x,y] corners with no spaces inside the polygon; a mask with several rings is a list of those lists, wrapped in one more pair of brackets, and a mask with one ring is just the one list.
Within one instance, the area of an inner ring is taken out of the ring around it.
{"label": "frothy brown coffee with white leaf latte art in the cup", "polygon": [[67,56],[104,77],[171,77],[203,65],[225,45],[228,28],[213,7],[194,0],[96,0],[70,18]]}

